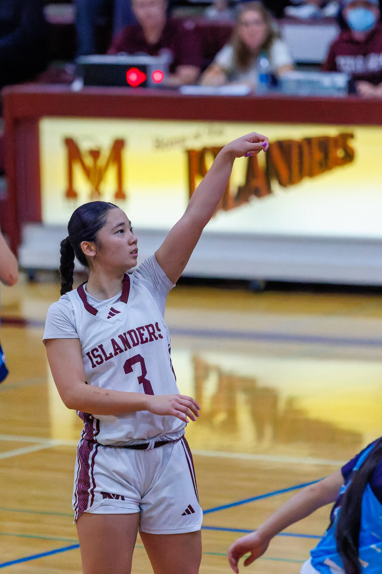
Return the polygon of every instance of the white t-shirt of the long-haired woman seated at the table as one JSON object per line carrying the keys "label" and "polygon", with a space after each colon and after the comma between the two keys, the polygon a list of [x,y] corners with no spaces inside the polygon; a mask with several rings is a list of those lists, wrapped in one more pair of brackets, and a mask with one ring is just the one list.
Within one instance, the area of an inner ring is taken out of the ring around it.
{"label": "white t-shirt of the long-haired woman seated at the table", "polygon": [[[277,71],[285,66],[292,65],[293,60],[288,52],[287,45],[280,38],[273,41],[268,52],[268,60],[271,73],[277,75]],[[254,60],[250,68],[241,71],[234,67],[234,53],[231,44],[223,46],[214,59],[214,64],[218,64],[225,71],[229,82],[245,82],[256,86],[257,83],[257,60]]]}

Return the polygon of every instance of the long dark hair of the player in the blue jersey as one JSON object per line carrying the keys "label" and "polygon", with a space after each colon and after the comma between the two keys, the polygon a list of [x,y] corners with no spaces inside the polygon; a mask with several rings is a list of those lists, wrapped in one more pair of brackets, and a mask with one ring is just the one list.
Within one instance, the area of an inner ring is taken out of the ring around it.
{"label": "long dark hair of the player in the blue jersey", "polygon": [[360,544],[362,498],[373,471],[382,460],[382,437],[362,466],[353,473],[352,482],[342,499],[341,509],[335,526],[337,552],[344,563],[345,574],[361,574],[358,560]]}

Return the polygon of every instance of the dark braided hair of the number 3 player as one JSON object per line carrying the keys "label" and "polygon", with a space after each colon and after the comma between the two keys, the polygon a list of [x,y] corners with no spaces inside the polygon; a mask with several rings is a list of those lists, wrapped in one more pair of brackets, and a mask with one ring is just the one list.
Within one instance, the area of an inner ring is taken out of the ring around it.
{"label": "dark braided hair of the number 3 player", "polygon": [[117,205],[108,201],[91,201],[80,205],[68,223],[68,236],[61,241],[60,277],[64,295],[72,290],[74,256],[87,267],[87,259],[81,249],[83,241],[95,241],[98,231],[105,225],[107,212]]}

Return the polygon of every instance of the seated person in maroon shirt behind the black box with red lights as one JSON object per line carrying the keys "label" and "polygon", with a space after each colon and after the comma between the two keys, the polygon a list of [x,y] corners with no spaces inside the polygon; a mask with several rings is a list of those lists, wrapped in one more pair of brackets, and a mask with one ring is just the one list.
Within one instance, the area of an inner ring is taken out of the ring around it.
{"label": "seated person in maroon shirt behind the black box with red lights", "polygon": [[194,84],[200,74],[202,53],[198,36],[182,21],[167,18],[165,0],[133,0],[138,24],[126,26],[115,38],[109,54],[126,52],[158,56],[168,52],[172,58],[166,85]]}

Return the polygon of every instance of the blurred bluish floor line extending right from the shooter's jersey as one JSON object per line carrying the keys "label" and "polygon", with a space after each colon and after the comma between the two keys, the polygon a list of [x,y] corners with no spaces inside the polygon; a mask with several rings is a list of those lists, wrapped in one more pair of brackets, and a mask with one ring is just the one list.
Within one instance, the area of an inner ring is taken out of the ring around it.
{"label": "blurred bluish floor line extending right from the shooter's jersey", "polygon": [[319,335],[290,335],[262,331],[224,331],[222,329],[180,329],[170,328],[171,335],[210,337],[218,339],[249,339],[286,343],[321,343],[339,346],[380,347],[382,339],[358,339],[356,337],[324,337]]}

